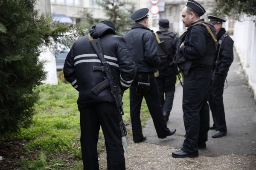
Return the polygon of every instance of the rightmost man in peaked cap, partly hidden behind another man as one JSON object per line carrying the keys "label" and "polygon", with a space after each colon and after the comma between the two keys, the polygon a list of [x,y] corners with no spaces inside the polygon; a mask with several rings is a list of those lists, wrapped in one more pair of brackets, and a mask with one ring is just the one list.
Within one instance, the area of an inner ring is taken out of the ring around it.
{"label": "rightmost man in peaked cap, partly hidden behind another man", "polygon": [[221,40],[221,44],[218,45],[219,55],[216,61],[214,79],[208,100],[213,119],[213,126],[211,126],[210,129],[216,129],[216,132],[212,135],[212,138],[220,138],[227,135],[227,125],[222,95],[227,72],[234,59],[234,42],[230,36],[226,34],[225,28],[222,28],[222,23],[226,22],[226,20],[212,15],[209,15],[208,18],[209,22],[212,23],[216,29],[217,40]]}

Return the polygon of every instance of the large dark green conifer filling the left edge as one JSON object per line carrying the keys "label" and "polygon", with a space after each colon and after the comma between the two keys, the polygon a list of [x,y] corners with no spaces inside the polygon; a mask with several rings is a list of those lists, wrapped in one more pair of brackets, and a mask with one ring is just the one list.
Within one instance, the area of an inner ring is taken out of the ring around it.
{"label": "large dark green conifer filling the left edge", "polygon": [[35,87],[45,79],[39,60],[43,45],[67,26],[34,9],[36,0],[0,0],[0,136],[26,127],[38,100]]}

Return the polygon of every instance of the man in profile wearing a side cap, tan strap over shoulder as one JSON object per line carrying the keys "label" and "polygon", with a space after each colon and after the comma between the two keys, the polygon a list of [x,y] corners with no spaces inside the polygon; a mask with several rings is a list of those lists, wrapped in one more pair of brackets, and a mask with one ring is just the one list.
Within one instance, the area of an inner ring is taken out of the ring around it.
{"label": "man in profile wearing a side cap, tan strap over shoulder", "polygon": [[185,140],[181,150],[172,157],[197,157],[198,148],[205,148],[209,130],[207,98],[216,53],[215,28],[200,20],[205,9],[189,0],[182,10],[182,22],[187,31],[180,37],[175,62],[183,73],[183,120]]}

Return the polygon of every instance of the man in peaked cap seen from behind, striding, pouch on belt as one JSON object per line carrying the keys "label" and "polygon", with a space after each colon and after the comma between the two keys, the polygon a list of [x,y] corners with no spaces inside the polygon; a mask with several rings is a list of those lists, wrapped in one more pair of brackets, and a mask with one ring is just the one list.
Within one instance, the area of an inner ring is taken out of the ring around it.
{"label": "man in peaked cap seen from behind, striding, pouch on belt", "polygon": [[140,107],[145,97],[148,110],[152,116],[158,138],[166,138],[175,133],[176,129],[169,130],[163,118],[162,106],[154,72],[160,64],[157,55],[157,40],[148,26],[148,8],[142,8],[131,15],[131,20],[135,21],[131,31],[125,34],[125,42],[128,50],[133,56],[137,67],[137,74],[130,88],[130,110],[131,125],[134,142],[146,140],[143,136]]}

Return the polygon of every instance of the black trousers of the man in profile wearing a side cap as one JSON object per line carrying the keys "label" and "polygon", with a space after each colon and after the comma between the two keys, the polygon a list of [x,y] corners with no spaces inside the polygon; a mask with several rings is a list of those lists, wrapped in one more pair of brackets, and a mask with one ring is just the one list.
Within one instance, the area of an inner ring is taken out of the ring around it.
{"label": "black trousers of the man in profile wearing a side cap", "polygon": [[198,155],[198,144],[205,144],[209,131],[209,105],[207,98],[212,79],[212,68],[198,67],[189,70],[184,76],[183,120],[185,140],[182,150]]}

